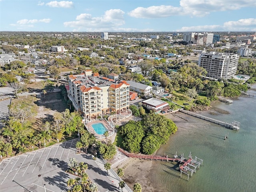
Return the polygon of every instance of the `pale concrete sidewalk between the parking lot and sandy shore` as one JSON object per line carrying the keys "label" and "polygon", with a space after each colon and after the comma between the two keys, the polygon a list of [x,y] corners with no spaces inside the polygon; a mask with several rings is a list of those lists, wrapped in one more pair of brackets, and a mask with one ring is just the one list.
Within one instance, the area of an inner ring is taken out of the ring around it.
{"label": "pale concrete sidewalk between the parking lot and sandy shore", "polygon": [[[96,164],[99,166],[99,168],[101,170],[103,170],[104,172],[106,172],[106,169],[104,168],[104,160],[100,159],[100,158],[97,158],[96,160],[94,160],[94,162],[96,162]],[[107,172],[106,172],[106,175],[107,175]],[[116,172],[114,172],[114,170],[110,169],[108,170],[108,176],[109,180],[118,188],[119,187],[119,177],[118,175],[116,174]],[[118,190],[117,190],[118,191]],[[121,191],[121,188],[119,190],[119,192]],[[102,192],[102,191],[101,191]],[[106,191],[107,192],[107,191]],[[125,187],[123,188],[123,192],[133,192],[130,187],[125,184]]]}

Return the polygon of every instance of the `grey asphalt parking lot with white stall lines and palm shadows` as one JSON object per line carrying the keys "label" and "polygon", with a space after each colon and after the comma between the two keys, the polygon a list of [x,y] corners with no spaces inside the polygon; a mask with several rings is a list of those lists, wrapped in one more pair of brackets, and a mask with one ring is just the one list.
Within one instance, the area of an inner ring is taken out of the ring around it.
{"label": "grey asphalt parking lot with white stall lines and palm shadows", "polygon": [[65,192],[67,181],[75,176],[64,172],[69,158],[88,164],[87,173],[101,192],[118,191],[91,156],[76,154],[71,140],[3,160],[0,164],[0,190],[4,192]]}

